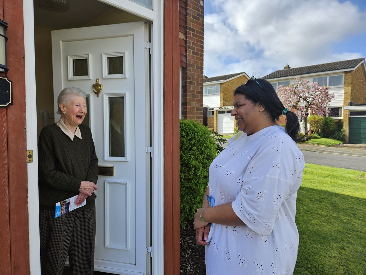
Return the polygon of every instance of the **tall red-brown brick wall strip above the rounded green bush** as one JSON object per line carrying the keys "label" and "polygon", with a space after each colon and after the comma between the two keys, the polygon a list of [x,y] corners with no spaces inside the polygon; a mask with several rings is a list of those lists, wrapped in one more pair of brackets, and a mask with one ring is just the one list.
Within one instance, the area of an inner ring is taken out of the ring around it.
{"label": "tall red-brown brick wall strip above the rounded green bush", "polygon": [[201,123],[203,123],[203,9],[200,0],[179,1],[180,66],[183,67],[182,118]]}

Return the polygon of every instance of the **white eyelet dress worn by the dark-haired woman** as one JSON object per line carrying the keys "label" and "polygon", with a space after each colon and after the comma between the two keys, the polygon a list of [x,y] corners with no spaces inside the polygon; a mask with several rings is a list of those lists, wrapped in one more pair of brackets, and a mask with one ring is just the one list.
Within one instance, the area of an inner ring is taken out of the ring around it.
{"label": "white eyelet dress worn by the dark-haired woman", "polygon": [[206,274],[292,274],[303,154],[281,126],[233,139],[210,165],[209,190],[215,205],[231,203],[245,225],[213,224]]}

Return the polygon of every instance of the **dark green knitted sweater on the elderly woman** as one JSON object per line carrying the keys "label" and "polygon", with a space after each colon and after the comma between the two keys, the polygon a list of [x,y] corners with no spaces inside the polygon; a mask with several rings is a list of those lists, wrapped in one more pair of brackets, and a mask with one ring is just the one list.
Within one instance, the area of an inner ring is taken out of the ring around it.
{"label": "dark green knitted sweater on the elderly woman", "polygon": [[[38,188],[41,209],[55,210],[56,202],[79,194],[81,181],[97,184],[98,158],[89,127],[79,125],[82,139],[71,140],[55,124],[44,127],[38,140]],[[86,209],[95,205],[95,192]]]}

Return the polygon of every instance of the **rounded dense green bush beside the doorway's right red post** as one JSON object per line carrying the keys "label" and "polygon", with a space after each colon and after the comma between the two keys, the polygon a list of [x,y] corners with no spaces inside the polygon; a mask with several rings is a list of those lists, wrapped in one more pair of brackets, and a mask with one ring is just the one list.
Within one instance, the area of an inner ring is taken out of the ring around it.
{"label": "rounded dense green bush beside the doorway's right red post", "polygon": [[180,225],[185,228],[202,206],[208,169],[217,155],[217,147],[212,131],[199,122],[182,119],[179,129]]}

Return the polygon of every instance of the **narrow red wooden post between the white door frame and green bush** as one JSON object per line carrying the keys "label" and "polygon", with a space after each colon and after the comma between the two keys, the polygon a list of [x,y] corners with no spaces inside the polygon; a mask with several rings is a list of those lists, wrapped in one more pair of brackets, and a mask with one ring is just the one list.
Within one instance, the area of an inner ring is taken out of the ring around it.
{"label": "narrow red wooden post between the white door frame and green bush", "polygon": [[164,273],[179,258],[179,0],[164,1]]}

